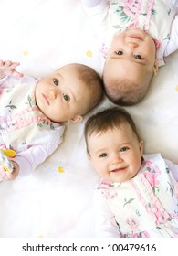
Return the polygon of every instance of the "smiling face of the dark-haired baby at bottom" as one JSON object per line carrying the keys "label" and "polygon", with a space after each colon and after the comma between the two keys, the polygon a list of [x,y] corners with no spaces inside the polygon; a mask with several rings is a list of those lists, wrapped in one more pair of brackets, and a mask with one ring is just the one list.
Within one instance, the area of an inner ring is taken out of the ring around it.
{"label": "smiling face of the dark-haired baby at bottom", "polygon": [[92,165],[108,181],[125,182],[141,168],[142,142],[128,123],[106,133],[91,134],[88,145]]}

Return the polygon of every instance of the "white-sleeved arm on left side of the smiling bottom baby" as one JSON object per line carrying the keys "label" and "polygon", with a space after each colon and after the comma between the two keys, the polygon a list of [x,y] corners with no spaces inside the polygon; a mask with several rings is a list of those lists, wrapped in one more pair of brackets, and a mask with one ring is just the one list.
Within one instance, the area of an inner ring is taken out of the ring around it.
{"label": "white-sleeved arm on left side of the smiling bottom baby", "polygon": [[99,238],[120,238],[120,231],[107,201],[99,191],[94,191],[96,236]]}

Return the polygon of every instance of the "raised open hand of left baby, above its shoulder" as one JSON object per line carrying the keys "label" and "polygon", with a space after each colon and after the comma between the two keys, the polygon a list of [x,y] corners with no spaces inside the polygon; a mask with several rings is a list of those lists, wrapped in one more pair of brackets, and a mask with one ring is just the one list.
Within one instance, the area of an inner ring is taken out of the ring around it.
{"label": "raised open hand of left baby, above its shoulder", "polygon": [[10,60],[3,61],[0,59],[0,79],[3,79],[5,76],[23,77],[22,73],[16,71],[16,67],[19,65],[20,63],[18,62],[12,62]]}

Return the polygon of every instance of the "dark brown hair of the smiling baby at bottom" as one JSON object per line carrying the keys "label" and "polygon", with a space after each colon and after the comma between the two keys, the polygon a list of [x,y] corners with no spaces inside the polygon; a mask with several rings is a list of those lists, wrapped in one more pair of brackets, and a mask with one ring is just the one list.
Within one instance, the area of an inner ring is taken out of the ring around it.
{"label": "dark brown hair of the smiling baby at bottom", "polygon": [[131,125],[133,133],[137,136],[140,141],[140,136],[137,132],[136,125],[131,118],[131,115],[126,110],[119,107],[112,107],[106,109],[89,117],[88,121],[85,124],[84,136],[88,149],[88,139],[92,133],[105,133],[108,130],[113,130],[119,128],[121,124],[128,123]]}

